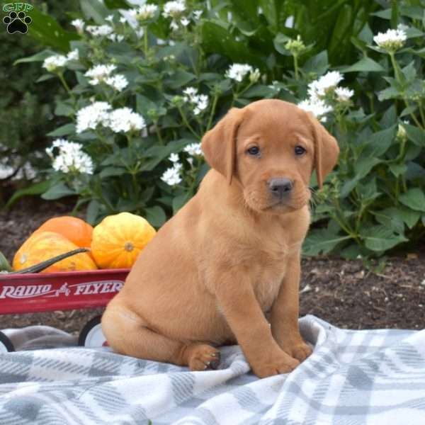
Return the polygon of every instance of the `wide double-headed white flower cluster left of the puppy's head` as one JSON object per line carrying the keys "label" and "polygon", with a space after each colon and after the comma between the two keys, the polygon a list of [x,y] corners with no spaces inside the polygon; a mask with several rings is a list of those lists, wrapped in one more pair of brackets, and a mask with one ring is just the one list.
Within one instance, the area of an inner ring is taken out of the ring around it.
{"label": "wide double-headed white flower cluster left of the puppy's head", "polygon": [[146,128],[142,115],[130,108],[118,108],[114,111],[107,102],[94,102],[77,112],[77,133],[95,130],[98,125],[111,128],[113,132],[138,131]]}

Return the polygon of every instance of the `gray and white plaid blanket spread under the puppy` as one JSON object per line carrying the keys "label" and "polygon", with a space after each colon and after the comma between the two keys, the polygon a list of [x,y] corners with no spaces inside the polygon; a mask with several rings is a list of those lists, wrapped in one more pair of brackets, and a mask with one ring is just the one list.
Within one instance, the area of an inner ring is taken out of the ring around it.
{"label": "gray and white plaid blanket spread under the puppy", "polygon": [[312,356],[261,380],[238,346],[205,372],[107,348],[1,354],[0,424],[425,424],[425,330],[300,327]]}

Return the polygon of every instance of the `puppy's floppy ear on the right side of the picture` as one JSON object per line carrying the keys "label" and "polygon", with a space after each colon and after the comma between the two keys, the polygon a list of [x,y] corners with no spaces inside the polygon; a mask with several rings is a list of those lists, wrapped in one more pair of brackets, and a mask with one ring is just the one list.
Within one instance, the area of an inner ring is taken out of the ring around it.
{"label": "puppy's floppy ear on the right side of the picture", "polygon": [[314,135],[314,168],[317,184],[322,188],[325,177],[332,171],[338,161],[339,146],[335,137],[329,134],[313,115],[307,113]]}

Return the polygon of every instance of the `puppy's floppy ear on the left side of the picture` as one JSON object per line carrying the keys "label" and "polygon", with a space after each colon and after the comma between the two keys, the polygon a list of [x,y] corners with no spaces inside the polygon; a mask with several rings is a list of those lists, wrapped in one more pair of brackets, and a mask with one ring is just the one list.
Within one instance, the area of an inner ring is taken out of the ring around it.
{"label": "puppy's floppy ear on the left side of the picture", "polygon": [[236,138],[244,113],[232,108],[214,128],[202,138],[201,148],[210,166],[232,183],[236,162]]}

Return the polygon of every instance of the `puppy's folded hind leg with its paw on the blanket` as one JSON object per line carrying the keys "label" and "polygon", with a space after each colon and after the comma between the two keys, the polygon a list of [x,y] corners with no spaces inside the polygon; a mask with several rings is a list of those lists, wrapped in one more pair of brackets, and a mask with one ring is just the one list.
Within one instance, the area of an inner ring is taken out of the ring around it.
{"label": "puppy's folded hind leg with its paw on the blanket", "polygon": [[125,307],[108,307],[102,330],[113,350],[125,356],[188,366],[191,370],[216,369],[220,351],[208,344],[168,338],[149,329],[142,317]]}

